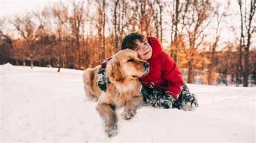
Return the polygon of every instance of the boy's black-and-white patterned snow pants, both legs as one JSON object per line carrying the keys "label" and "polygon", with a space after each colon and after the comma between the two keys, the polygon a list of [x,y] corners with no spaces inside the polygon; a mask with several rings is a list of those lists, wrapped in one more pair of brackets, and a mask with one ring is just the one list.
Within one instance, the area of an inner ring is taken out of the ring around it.
{"label": "boy's black-and-white patterned snow pants, both legs", "polygon": [[193,111],[198,107],[198,99],[196,95],[190,93],[185,83],[178,99],[174,102],[170,101],[169,95],[165,95],[153,88],[142,86],[140,92],[143,95],[143,101],[147,105],[151,105],[156,108],[177,108],[183,109],[184,111]]}

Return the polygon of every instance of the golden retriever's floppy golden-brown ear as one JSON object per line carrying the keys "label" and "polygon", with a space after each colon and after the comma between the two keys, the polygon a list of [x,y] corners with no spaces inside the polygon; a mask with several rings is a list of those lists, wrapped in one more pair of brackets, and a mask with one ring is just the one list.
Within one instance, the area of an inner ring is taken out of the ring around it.
{"label": "golden retriever's floppy golden-brown ear", "polygon": [[120,82],[123,80],[123,73],[120,66],[120,61],[118,59],[112,59],[110,65],[107,65],[106,74],[112,77],[115,81]]}

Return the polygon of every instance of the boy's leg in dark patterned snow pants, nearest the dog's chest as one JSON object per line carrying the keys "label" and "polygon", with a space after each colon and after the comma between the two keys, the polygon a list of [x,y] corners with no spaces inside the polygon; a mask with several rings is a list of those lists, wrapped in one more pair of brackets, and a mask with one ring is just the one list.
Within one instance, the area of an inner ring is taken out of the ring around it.
{"label": "boy's leg in dark patterned snow pants, nearest the dog's chest", "polygon": [[165,96],[165,94],[156,89],[142,86],[140,92],[142,93],[144,103],[147,105],[160,109],[170,109],[172,107],[170,97]]}

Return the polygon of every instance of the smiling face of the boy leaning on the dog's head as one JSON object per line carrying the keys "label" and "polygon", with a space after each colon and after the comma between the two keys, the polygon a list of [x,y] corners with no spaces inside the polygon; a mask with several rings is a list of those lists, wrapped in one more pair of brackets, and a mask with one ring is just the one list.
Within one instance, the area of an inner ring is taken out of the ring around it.
{"label": "smiling face of the boy leaning on the dog's head", "polygon": [[138,53],[139,59],[147,61],[152,56],[152,47],[148,42],[140,42],[136,40],[136,44],[138,45],[134,50]]}

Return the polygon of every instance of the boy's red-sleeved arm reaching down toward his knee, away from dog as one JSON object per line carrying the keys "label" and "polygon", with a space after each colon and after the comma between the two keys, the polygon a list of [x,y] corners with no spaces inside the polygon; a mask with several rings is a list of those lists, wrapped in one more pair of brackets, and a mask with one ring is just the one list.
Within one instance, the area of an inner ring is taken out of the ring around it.
{"label": "boy's red-sleeved arm reaching down toward his knee, away from dog", "polygon": [[167,81],[166,95],[170,95],[177,99],[180,95],[181,89],[183,88],[183,78],[181,72],[176,63],[165,54],[165,60],[163,62],[163,77]]}

